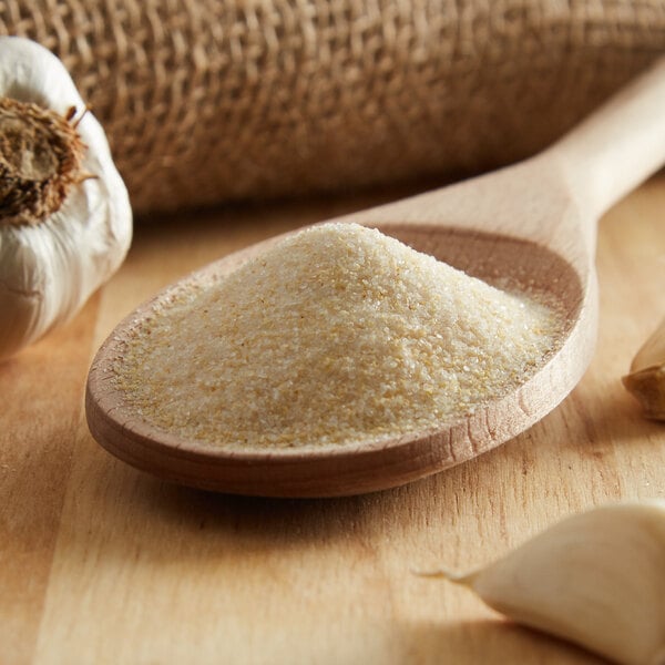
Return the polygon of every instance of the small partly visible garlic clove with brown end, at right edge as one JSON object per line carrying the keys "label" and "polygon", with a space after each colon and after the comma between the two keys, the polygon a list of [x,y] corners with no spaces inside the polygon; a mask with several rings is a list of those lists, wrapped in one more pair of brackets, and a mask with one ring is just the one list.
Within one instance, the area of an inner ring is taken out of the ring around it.
{"label": "small partly visible garlic clove with brown end, at right edge", "polygon": [[665,319],[637,351],[631,372],[622,380],[647,418],[665,420]]}

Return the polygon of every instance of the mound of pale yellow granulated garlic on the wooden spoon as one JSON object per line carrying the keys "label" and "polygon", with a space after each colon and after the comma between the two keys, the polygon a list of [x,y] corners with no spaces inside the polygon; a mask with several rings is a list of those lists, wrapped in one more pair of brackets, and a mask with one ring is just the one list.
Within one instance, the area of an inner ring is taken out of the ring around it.
{"label": "mound of pale yellow granulated garlic on the wooden spoon", "polygon": [[234,449],[362,442],[522,383],[557,318],[376,229],[323,224],[168,304],[114,367],[127,403]]}

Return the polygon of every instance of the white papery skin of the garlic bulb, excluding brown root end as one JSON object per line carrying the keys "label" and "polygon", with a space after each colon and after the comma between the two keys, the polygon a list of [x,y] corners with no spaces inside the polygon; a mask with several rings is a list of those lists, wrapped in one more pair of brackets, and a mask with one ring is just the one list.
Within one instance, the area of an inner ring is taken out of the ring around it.
{"label": "white papery skin of the garlic bulb, excluding brown root end", "polygon": [[69,320],[121,265],[132,211],[100,123],[64,65],[43,47],[0,37],[0,96],[63,117],[76,110],[82,172],[59,209],[39,224],[0,223],[0,359]]}

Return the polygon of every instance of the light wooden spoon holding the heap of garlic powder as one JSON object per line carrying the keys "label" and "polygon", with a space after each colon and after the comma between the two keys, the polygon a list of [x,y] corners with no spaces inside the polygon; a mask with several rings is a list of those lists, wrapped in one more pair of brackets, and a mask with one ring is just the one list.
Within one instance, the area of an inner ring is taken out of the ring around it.
{"label": "light wooden spoon holding the heap of garlic powder", "polygon": [[[596,221],[664,161],[662,60],[531,160],[338,219],[376,226],[489,282],[508,279],[549,294],[565,311],[565,334],[551,360],[516,390],[467,418],[441,422],[436,430],[334,451],[232,453],[180,439],[144,420],[110,380],[123,340],[150,315],[153,300],[117,326],[93,361],[85,400],[90,430],[110,452],[139,469],[178,483],[242,494],[355,494],[470,460],[543,418],[582,377],[596,337]],[[192,280],[229,273],[276,239],[215,262],[156,299]]]}

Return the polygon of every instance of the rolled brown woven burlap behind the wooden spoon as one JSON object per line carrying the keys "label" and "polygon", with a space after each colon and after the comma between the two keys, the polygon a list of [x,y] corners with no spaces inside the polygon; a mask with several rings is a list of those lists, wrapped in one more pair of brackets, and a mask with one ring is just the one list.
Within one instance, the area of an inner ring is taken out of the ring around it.
{"label": "rolled brown woven burlap behind the wooden spoon", "polygon": [[665,0],[3,0],[0,32],[64,61],[143,212],[529,155],[665,51]]}

